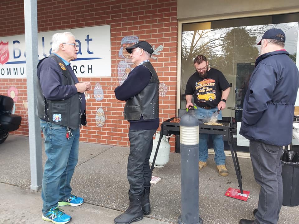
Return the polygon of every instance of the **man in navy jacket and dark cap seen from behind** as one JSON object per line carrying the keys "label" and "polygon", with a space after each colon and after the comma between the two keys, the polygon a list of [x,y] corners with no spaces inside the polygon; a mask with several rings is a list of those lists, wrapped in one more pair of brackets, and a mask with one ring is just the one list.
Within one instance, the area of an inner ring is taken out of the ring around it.
{"label": "man in navy jacket and dark cap seen from behind", "polygon": [[240,134],[249,139],[254,178],[261,185],[255,220],[240,224],[277,224],[282,206],[280,156],[282,146],[292,142],[292,124],[299,72],[284,49],[286,36],[280,29],[266,31],[261,55],[255,61],[244,98]]}

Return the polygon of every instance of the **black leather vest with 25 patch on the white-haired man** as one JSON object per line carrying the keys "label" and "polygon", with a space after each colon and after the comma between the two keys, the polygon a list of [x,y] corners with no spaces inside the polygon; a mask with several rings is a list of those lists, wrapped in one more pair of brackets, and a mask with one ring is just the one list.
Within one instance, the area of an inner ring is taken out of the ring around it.
{"label": "black leather vest with 25 patch on the white-haired man", "polygon": [[[64,62],[55,54],[45,58],[53,58],[61,70],[61,85],[74,85],[75,80],[72,78]],[[41,59],[39,64],[45,59]],[[82,125],[86,125],[85,110],[81,111],[81,95],[74,94],[66,100],[47,100],[43,94],[40,82],[37,82],[37,111],[40,119],[60,124],[76,130]]]}

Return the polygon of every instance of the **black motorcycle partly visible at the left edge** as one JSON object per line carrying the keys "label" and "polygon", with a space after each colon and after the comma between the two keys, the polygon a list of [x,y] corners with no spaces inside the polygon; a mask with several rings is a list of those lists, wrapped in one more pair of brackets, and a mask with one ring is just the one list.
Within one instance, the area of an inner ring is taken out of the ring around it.
{"label": "black motorcycle partly visible at the left edge", "polygon": [[8,137],[9,132],[17,130],[22,117],[12,114],[13,100],[9,96],[0,95],[0,144]]}

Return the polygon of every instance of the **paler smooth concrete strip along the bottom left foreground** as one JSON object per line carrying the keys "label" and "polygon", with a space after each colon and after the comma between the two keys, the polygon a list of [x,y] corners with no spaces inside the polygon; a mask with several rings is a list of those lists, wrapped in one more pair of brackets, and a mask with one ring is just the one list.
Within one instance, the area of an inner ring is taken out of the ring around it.
{"label": "paler smooth concrete strip along the bottom left foreground", "polygon": [[[10,184],[0,183],[0,223],[3,224],[39,224],[51,223],[41,219],[40,192],[16,187]],[[83,203],[78,207],[63,206],[60,207],[65,213],[72,216],[69,223],[72,224],[96,224],[113,223],[113,219],[122,212]],[[144,217],[138,223],[140,224],[167,224],[151,218]]]}

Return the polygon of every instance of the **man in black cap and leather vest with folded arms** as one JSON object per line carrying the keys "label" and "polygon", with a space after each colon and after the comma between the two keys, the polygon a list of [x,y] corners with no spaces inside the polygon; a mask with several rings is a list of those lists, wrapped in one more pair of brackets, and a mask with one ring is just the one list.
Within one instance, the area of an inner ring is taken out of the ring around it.
{"label": "man in black cap and leather vest with folded arms", "polygon": [[154,50],[139,41],[126,50],[136,67],[121,86],[114,90],[116,99],[125,100],[125,120],[130,123],[130,154],[127,178],[130,184],[130,206],[114,219],[116,224],[129,224],[150,214],[150,154],[153,136],[159,127],[159,78],[150,57]]}

